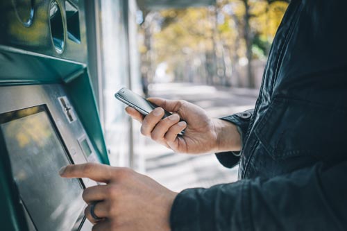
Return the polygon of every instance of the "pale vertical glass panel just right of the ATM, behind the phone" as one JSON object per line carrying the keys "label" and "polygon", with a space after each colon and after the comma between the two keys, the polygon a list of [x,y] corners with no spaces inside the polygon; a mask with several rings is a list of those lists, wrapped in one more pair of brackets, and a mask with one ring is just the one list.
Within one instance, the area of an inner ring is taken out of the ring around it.
{"label": "pale vertical glass panel just right of the ATM, behind the phone", "polygon": [[110,148],[110,163],[128,166],[129,119],[124,104],[115,99],[115,92],[128,86],[128,42],[124,21],[124,1],[99,1],[103,64],[103,121],[105,142]]}

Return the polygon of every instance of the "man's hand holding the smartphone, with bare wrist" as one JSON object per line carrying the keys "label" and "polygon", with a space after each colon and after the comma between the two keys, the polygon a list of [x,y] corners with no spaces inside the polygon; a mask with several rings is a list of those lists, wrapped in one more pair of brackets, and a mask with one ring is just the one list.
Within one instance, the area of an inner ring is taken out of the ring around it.
{"label": "man's hand holding the smartphone, with bare wrist", "polygon": [[[149,101],[161,108],[155,108],[146,117],[130,107],[126,108],[126,112],[133,119],[142,122],[142,134],[151,137],[155,142],[179,153],[240,150],[241,137],[234,124],[220,119],[211,119],[205,110],[187,101],[158,98],[151,98]],[[163,108],[174,114],[162,119]],[[183,121],[180,121],[180,118]],[[184,129],[185,134],[178,135]]]}

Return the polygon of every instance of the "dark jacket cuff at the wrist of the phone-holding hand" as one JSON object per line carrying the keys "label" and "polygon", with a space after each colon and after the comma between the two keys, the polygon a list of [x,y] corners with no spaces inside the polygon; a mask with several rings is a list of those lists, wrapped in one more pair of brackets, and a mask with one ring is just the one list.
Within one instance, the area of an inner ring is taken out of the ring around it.
{"label": "dark jacket cuff at the wrist of the phone-holding hand", "polygon": [[[246,133],[248,130],[249,123],[251,121],[251,117],[253,115],[252,110],[246,110],[244,112],[240,112],[237,114],[230,115],[228,117],[223,117],[221,119],[228,121],[230,123],[234,123],[237,126],[237,130],[241,135],[242,144],[246,140]],[[241,151],[239,152],[223,152],[216,153],[216,157],[223,166],[227,168],[232,168],[239,162],[239,156]]]}

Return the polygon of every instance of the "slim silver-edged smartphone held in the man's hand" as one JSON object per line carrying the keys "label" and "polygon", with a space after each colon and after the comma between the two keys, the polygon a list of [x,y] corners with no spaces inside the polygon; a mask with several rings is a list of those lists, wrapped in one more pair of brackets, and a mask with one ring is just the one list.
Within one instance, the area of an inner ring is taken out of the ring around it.
{"label": "slim silver-edged smartphone held in the man's hand", "polygon": [[[137,110],[139,113],[143,114],[144,116],[152,112],[155,108],[158,108],[158,105],[151,103],[150,101],[144,99],[142,96],[139,96],[138,94],[134,93],[133,91],[131,91],[130,89],[126,87],[121,88],[115,94],[115,97],[116,99],[125,103],[131,108],[134,108],[135,110]],[[162,117],[162,119],[171,116],[171,114],[172,113],[164,110],[164,116]],[[180,135],[183,135],[184,132],[185,132],[184,130],[180,132]]]}

